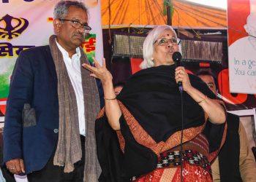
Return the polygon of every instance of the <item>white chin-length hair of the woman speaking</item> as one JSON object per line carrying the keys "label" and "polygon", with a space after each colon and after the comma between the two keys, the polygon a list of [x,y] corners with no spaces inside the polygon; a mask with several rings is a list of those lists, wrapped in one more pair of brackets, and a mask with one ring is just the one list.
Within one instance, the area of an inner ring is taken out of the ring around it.
{"label": "white chin-length hair of the woman speaking", "polygon": [[[170,29],[173,31],[177,38],[177,34],[174,29],[170,25],[159,25],[153,28],[146,36],[146,39],[143,43],[143,62],[140,64],[140,68],[151,68],[154,66],[154,62],[152,60],[153,52],[154,52],[154,42],[157,40],[158,36],[162,31]],[[181,52],[181,47],[178,47],[179,52]]]}

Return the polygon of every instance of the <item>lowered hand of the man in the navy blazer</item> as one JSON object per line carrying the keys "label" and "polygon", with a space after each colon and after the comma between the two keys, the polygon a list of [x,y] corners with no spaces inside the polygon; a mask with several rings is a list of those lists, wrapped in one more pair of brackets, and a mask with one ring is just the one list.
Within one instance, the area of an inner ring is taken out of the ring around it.
{"label": "lowered hand of the man in the navy blazer", "polygon": [[20,173],[25,173],[23,159],[11,159],[6,162],[6,166],[12,174],[18,175]]}

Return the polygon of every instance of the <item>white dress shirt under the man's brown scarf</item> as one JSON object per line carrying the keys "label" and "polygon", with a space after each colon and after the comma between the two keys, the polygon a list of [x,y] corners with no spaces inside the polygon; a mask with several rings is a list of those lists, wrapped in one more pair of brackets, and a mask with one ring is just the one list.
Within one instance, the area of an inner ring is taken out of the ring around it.
{"label": "white dress shirt under the man's brown scarf", "polygon": [[80,65],[80,49],[76,49],[75,55],[69,58],[69,53],[61,47],[56,41],[59,50],[63,55],[63,60],[69,74],[69,79],[72,83],[73,89],[75,90],[75,98],[78,105],[78,120],[79,120],[79,132],[80,135],[86,135],[86,119],[84,114],[84,103],[83,103],[83,88],[82,88],[82,77],[81,77],[81,65]]}

